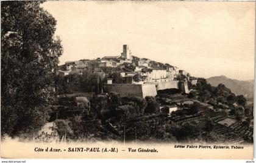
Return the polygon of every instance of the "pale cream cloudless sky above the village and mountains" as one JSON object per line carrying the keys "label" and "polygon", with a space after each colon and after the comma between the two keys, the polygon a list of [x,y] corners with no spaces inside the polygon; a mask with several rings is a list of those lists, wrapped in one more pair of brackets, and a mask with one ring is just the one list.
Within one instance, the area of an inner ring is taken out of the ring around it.
{"label": "pale cream cloudless sky above the village and mountains", "polygon": [[255,2],[47,1],[62,40],[60,64],[132,55],[192,76],[254,79]]}

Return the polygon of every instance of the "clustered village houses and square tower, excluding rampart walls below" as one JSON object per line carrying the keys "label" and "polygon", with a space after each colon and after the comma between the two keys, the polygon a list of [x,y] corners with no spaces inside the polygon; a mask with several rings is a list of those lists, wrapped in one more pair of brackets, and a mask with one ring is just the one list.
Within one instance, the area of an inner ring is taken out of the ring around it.
{"label": "clustered village houses and square tower, excluding rampart walls below", "polygon": [[[108,69],[111,72],[107,72]],[[59,75],[82,74],[84,70],[98,73],[102,78],[106,77],[108,73],[115,73],[123,78],[123,82],[118,84],[155,84],[155,87],[158,85],[159,88],[163,87],[163,85],[159,85],[161,83],[179,80],[177,78],[180,75],[188,79],[187,73],[184,70],[179,70],[178,67],[132,56],[129,45],[123,45],[123,52],[120,55],[65,62],[65,65],[62,65],[59,70]],[[107,84],[116,84],[111,80],[108,78]]]}

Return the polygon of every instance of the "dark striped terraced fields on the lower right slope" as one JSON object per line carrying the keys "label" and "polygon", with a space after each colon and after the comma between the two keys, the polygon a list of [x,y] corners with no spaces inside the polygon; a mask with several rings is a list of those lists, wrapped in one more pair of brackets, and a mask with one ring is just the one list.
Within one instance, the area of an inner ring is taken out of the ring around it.
{"label": "dark striped terraced fields on the lower right slope", "polygon": [[[232,119],[234,123],[229,126],[219,124],[220,121],[227,118]],[[129,124],[126,132],[128,133],[129,131],[132,131],[131,129],[128,129],[129,126],[130,128],[134,128],[137,124],[140,124],[140,122],[150,124],[152,128],[154,128],[154,126],[169,124],[170,122],[174,122],[177,125],[183,125],[187,122],[196,122],[199,127],[205,127],[205,124],[209,119],[213,122],[212,132],[216,133],[216,135],[223,136],[226,142],[243,143],[246,142],[245,138],[249,138],[249,141],[252,141],[253,139],[253,131],[250,128],[246,127],[241,122],[237,122],[232,116],[226,116],[222,112],[216,112],[207,107],[200,108],[200,110],[194,115],[172,115],[171,117],[167,117],[162,114],[157,114],[133,118],[126,122],[126,124]],[[206,133],[207,131],[204,132]]]}

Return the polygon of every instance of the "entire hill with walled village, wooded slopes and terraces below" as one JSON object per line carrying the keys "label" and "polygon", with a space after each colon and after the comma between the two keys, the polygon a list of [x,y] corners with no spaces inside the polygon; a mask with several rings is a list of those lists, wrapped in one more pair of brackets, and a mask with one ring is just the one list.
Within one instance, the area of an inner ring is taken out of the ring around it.
{"label": "entire hill with walled village, wooded slopes and terraces below", "polygon": [[133,56],[128,45],[60,65],[57,83],[38,141],[253,142],[253,104],[243,95]]}

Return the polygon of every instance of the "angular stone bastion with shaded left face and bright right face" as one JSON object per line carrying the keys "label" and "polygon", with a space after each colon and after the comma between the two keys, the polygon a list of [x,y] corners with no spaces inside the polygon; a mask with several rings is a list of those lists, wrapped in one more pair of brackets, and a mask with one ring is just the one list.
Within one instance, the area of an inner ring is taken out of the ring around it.
{"label": "angular stone bastion with shaded left face and bright right face", "polygon": [[157,90],[155,84],[105,84],[106,92],[115,91],[124,96],[137,96],[145,98],[146,96],[156,96]]}

